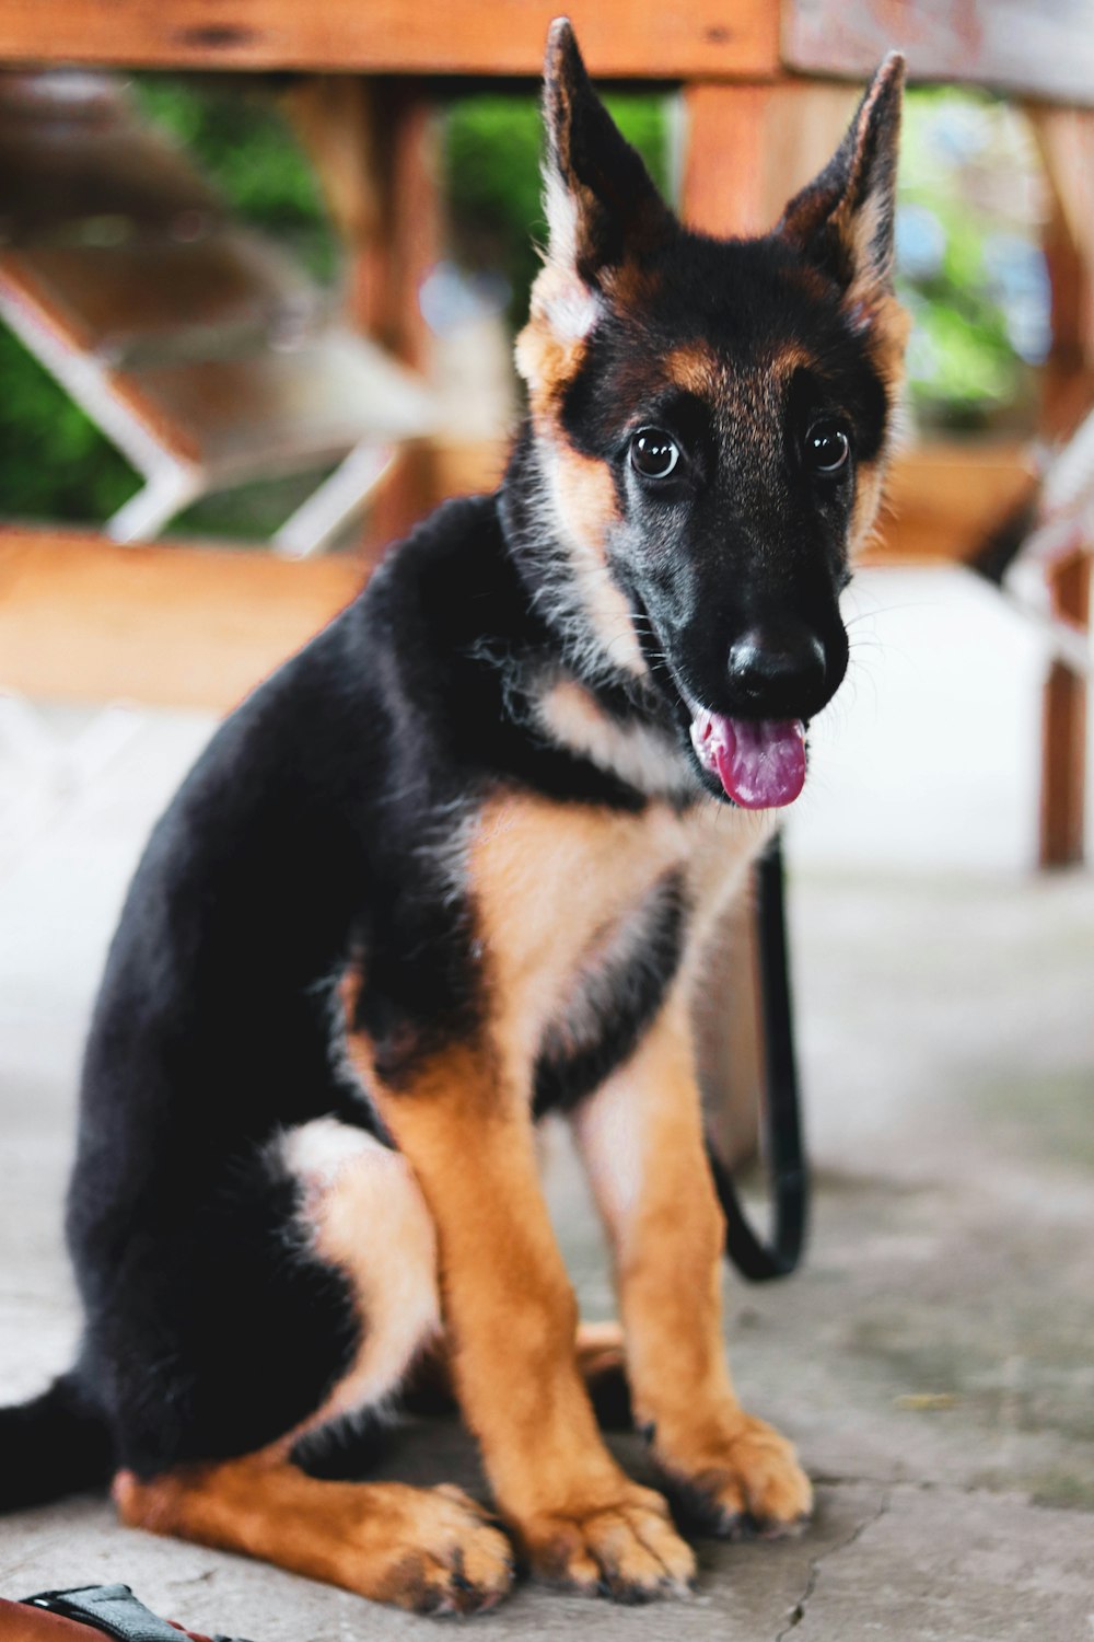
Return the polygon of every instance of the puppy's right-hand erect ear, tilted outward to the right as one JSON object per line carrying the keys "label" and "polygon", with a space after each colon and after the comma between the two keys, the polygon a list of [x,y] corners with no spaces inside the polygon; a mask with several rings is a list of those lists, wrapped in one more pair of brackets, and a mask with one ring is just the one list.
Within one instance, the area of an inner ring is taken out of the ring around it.
{"label": "puppy's right-hand erect ear, tilted outward to the right", "polygon": [[851,302],[892,289],[892,222],[900,141],[904,57],[892,51],[871,80],[846,136],[795,194],[777,232]]}

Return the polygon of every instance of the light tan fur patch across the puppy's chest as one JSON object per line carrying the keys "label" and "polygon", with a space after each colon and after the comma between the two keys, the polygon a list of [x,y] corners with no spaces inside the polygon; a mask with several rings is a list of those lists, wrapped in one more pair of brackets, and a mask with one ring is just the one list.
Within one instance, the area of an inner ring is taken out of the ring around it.
{"label": "light tan fur patch across the puppy's chest", "polygon": [[771,836],[766,816],[715,801],[641,814],[510,795],[487,805],[467,869],[494,1000],[494,1039],[523,1084],[545,1026],[572,998],[590,954],[668,872],[682,872],[691,916],[684,972]]}

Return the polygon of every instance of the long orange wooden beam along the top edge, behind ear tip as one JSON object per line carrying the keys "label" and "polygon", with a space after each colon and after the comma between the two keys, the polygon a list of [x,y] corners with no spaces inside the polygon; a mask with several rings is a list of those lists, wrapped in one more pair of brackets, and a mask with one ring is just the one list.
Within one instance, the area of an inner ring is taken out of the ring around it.
{"label": "long orange wooden beam along the top edge, behind ear tip", "polygon": [[[131,67],[538,74],[558,0],[5,0],[0,61]],[[774,74],[773,0],[576,0],[594,74]]]}

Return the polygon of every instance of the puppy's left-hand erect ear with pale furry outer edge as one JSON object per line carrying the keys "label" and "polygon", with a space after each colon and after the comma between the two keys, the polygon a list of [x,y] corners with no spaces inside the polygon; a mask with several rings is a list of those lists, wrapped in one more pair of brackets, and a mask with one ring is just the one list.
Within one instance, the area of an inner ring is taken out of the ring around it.
{"label": "puppy's left-hand erect ear with pale furry outer edge", "polygon": [[587,287],[672,228],[638,153],[592,89],[569,18],[551,23],[543,69],[548,264]]}

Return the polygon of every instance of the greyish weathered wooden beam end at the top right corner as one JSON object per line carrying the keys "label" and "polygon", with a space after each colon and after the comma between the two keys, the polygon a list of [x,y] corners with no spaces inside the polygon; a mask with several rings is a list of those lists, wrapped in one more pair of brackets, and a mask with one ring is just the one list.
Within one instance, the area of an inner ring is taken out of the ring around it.
{"label": "greyish weathered wooden beam end at the top right corner", "polygon": [[914,79],[1094,105],[1091,0],[784,0],[782,41],[802,72],[863,79],[897,46]]}

